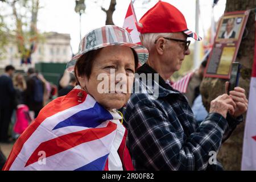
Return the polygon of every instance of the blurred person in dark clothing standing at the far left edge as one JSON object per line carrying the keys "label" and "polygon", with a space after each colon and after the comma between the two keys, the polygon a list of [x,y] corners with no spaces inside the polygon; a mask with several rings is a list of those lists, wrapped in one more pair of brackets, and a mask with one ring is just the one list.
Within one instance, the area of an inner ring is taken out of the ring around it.
{"label": "blurred person in dark clothing standing at the far left edge", "polygon": [[0,142],[9,143],[9,125],[11,115],[16,107],[15,89],[12,76],[15,72],[13,65],[5,67],[5,73],[0,76]]}

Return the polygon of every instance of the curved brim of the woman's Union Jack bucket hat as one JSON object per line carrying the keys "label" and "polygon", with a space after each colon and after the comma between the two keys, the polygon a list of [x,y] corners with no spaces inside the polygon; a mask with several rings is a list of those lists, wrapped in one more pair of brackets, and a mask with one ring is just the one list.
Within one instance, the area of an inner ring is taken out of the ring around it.
{"label": "curved brim of the woman's Union Jack bucket hat", "polygon": [[74,57],[72,57],[71,61],[68,62],[67,64],[67,71],[69,72],[73,72],[75,65],[76,65],[76,61],[85,53],[92,51],[92,50],[96,50],[96,49],[100,49],[103,47],[108,47],[108,46],[126,46],[126,47],[130,47],[132,49],[134,49],[134,51],[137,53],[138,55],[138,59],[139,59],[139,63],[141,65],[143,65],[144,63],[146,63],[147,59],[148,59],[148,51],[147,48],[144,46],[141,46],[139,44],[134,44],[134,43],[125,43],[125,42],[117,42],[117,43],[105,43],[105,44],[100,44],[96,47],[93,47],[92,49],[87,49],[84,52],[81,52],[77,55],[75,55]]}

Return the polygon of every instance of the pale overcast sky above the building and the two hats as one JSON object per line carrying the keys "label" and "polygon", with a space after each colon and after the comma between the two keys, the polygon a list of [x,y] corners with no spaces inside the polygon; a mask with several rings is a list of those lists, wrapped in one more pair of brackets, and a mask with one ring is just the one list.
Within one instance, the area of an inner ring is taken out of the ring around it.
{"label": "pale overcast sky above the building and the two hats", "polygon": [[[144,3],[145,0],[136,0],[134,9],[139,20],[144,13],[155,5],[157,0]],[[195,31],[195,4],[196,0],[169,0],[166,1],[177,7],[184,14],[188,28]],[[93,28],[105,25],[106,14],[101,6],[108,9],[110,0],[85,0],[85,14],[81,16],[81,34]],[[117,0],[113,21],[115,25],[122,26],[130,0]],[[220,0],[214,7],[214,19],[218,20],[224,13],[226,0]],[[38,15],[38,30],[40,32],[55,31],[71,35],[71,46],[76,53],[80,42],[79,15],[75,13],[75,0],[40,0]],[[200,0],[200,30],[199,35],[204,37],[204,32],[210,26],[212,0]]]}

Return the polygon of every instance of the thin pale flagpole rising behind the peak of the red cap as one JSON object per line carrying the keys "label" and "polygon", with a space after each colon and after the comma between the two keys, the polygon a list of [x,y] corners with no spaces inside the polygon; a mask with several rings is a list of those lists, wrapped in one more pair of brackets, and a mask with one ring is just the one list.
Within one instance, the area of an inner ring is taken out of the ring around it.
{"label": "thin pale flagpole rising behind the peak of the red cap", "polygon": [[[196,0],[196,34],[199,35],[199,0]],[[197,69],[199,67],[200,60],[200,43],[196,41],[194,44],[194,65],[193,69]]]}

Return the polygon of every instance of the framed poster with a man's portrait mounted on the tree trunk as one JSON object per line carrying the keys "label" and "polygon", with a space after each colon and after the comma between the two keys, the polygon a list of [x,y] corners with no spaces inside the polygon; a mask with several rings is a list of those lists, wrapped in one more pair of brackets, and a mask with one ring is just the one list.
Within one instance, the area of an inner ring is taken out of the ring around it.
{"label": "framed poster with a man's portrait mounted on the tree trunk", "polygon": [[249,13],[250,11],[234,11],[222,16],[205,69],[205,77],[230,77],[231,65],[236,60]]}

